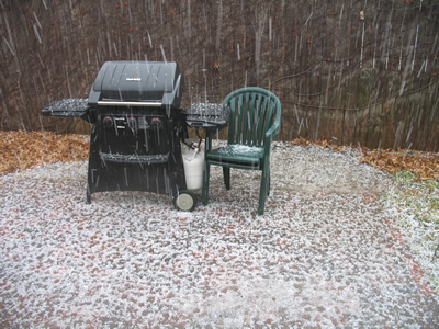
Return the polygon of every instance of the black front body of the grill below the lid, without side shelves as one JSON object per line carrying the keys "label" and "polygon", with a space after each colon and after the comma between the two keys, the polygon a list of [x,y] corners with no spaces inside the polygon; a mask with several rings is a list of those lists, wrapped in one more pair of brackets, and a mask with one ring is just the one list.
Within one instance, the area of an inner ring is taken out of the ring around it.
{"label": "black front body of the grill below the lid, without side shelves", "polygon": [[[92,193],[103,191],[147,191],[176,196],[185,190],[180,147],[185,129],[181,115],[175,113],[177,110],[171,111],[171,116],[159,112],[161,109],[98,110],[90,139],[88,202]],[[113,123],[105,126],[110,117]],[[144,124],[150,121],[157,123]]]}

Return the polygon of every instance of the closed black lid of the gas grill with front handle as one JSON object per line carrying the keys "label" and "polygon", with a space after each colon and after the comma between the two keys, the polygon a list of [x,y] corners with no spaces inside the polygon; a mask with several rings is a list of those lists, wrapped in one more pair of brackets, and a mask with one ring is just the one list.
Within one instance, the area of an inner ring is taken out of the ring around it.
{"label": "closed black lid of the gas grill with front handle", "polygon": [[179,107],[183,76],[177,63],[106,61],[91,88],[89,105]]}

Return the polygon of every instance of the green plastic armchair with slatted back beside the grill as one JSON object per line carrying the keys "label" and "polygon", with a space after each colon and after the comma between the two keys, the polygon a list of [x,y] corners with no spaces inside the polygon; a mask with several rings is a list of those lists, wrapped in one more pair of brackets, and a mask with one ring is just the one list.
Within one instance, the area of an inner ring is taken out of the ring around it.
{"label": "green plastic armchair with slatted back beside the grill", "polygon": [[206,136],[202,201],[209,203],[211,164],[222,166],[226,190],[230,190],[230,168],[261,170],[258,214],[263,215],[270,192],[270,148],[281,125],[281,103],[270,91],[250,87],[229,93],[223,101],[229,106],[228,143],[212,149],[215,131]]}

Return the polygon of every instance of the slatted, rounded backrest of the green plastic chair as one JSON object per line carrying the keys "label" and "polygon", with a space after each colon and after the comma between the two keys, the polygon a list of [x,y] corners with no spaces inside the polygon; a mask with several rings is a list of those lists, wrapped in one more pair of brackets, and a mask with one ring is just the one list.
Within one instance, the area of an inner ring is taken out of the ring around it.
{"label": "slatted, rounded backrest of the green plastic chair", "polygon": [[230,109],[228,144],[263,146],[264,135],[278,136],[281,103],[270,91],[249,87],[230,92],[223,101]]}

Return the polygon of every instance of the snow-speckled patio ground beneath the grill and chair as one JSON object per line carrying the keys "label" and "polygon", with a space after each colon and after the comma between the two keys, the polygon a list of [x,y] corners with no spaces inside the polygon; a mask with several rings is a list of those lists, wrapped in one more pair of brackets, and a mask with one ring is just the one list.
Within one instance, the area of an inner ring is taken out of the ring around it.
{"label": "snow-speckled patio ground beneath the grill and chair", "polygon": [[[278,143],[259,178],[212,168],[210,204],[97,193],[87,163],[0,178],[0,327],[436,327],[439,299],[398,230],[392,179],[353,150]],[[431,256],[430,256],[431,257]]]}

